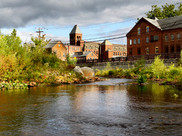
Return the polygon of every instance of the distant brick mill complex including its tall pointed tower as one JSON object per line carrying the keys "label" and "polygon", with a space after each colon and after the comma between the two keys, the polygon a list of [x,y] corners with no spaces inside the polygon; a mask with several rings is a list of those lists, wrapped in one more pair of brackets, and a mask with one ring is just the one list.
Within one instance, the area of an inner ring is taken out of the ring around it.
{"label": "distant brick mill complex including its tall pointed tower", "polygon": [[[77,25],[70,32],[70,44],[64,45],[67,54],[78,60],[108,59],[126,57],[126,46],[111,44],[108,40],[103,43],[82,40],[82,33]],[[59,48],[57,48],[59,50]],[[65,52],[65,51],[63,51]]]}

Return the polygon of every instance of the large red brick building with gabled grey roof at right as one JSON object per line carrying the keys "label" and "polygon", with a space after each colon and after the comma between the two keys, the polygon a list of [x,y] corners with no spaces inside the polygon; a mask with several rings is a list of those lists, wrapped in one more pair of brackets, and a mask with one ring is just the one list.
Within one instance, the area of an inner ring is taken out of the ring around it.
{"label": "large red brick building with gabled grey roof at right", "polygon": [[128,58],[180,52],[181,35],[182,16],[162,20],[143,17],[126,35]]}

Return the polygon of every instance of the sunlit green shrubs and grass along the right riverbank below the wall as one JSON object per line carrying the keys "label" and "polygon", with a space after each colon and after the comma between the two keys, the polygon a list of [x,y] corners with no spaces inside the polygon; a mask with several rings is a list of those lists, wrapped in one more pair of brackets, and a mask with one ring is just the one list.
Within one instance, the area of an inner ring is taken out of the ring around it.
{"label": "sunlit green shrubs and grass along the right riverbank below the wall", "polygon": [[[182,54],[181,54],[182,55]],[[97,70],[96,75],[102,77],[118,77],[137,79],[138,84],[143,84],[148,80],[158,81],[160,84],[173,84],[182,89],[182,58],[177,66],[171,64],[165,66],[159,56],[155,58],[150,66],[145,66],[145,60],[137,61],[130,69],[111,69],[110,63],[104,70]]]}

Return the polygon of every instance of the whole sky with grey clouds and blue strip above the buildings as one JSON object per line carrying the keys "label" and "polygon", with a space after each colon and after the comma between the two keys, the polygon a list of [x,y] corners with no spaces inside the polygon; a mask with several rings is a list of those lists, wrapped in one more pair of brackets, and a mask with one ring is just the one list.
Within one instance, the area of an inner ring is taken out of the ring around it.
{"label": "whole sky with grey clouds and blue strip above the buildings", "polygon": [[[69,42],[77,24],[83,40],[124,37],[152,5],[176,4],[181,0],[0,0],[3,34],[17,30],[22,42],[30,42],[42,28],[47,39]],[[126,38],[111,40],[126,44]]]}

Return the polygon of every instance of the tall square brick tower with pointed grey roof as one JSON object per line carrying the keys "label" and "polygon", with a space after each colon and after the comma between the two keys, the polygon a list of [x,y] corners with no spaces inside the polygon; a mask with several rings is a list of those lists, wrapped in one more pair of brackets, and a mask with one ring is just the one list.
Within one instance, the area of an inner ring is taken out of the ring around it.
{"label": "tall square brick tower with pointed grey roof", "polygon": [[78,25],[75,25],[70,32],[70,45],[77,45],[82,46],[82,33],[78,27]]}

